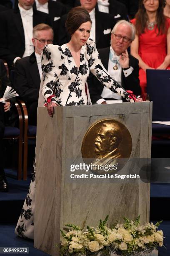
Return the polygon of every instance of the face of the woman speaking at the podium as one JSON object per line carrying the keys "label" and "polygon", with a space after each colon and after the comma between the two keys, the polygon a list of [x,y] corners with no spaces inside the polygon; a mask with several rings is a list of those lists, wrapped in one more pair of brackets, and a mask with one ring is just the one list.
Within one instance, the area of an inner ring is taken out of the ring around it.
{"label": "face of the woman speaking at the podium", "polygon": [[82,23],[80,27],[75,31],[74,34],[72,34],[71,39],[74,42],[74,44],[83,46],[87,42],[89,36],[90,36],[90,29],[91,29],[91,23],[90,21],[87,21],[85,23]]}

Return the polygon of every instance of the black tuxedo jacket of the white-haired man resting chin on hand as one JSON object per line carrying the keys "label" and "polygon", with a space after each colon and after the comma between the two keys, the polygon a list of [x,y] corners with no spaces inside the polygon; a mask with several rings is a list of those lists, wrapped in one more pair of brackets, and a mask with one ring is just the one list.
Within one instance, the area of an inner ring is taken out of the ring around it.
{"label": "black tuxedo jacket of the white-haired man resting chin on hand", "polygon": [[[109,53],[110,53],[110,47],[107,47],[105,49],[99,49],[98,50],[101,61],[105,69],[108,69],[108,61],[109,61]],[[138,59],[134,58],[133,56],[129,56],[129,65],[133,67],[133,72],[128,76],[125,77],[123,70],[121,75],[121,82],[122,87],[125,90],[131,90],[135,95],[140,95],[140,83],[139,83],[139,65],[138,65]],[[92,104],[94,104],[97,100],[101,99],[100,96],[103,90],[104,85],[102,85],[99,80],[90,74],[89,79],[87,80],[89,92],[90,92],[90,98],[92,101]]]}

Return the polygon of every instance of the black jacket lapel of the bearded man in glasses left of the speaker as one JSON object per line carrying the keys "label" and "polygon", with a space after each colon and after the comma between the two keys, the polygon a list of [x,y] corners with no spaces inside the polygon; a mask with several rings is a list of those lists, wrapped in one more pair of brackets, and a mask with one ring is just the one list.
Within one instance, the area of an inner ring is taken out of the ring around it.
{"label": "black jacket lapel of the bearded man in glasses left of the speaker", "polygon": [[35,84],[35,87],[40,87],[40,74],[37,66],[37,61],[35,57],[35,53],[33,52],[30,55],[30,76]]}

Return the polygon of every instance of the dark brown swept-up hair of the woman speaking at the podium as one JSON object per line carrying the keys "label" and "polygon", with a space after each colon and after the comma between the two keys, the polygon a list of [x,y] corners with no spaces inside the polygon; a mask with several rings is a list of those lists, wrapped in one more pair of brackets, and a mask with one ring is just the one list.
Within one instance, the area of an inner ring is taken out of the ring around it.
{"label": "dark brown swept-up hair of the woman speaking at the podium", "polygon": [[85,8],[81,6],[72,8],[68,13],[67,20],[65,22],[67,33],[69,33],[71,36],[81,26],[82,23],[87,21],[92,23],[90,15]]}

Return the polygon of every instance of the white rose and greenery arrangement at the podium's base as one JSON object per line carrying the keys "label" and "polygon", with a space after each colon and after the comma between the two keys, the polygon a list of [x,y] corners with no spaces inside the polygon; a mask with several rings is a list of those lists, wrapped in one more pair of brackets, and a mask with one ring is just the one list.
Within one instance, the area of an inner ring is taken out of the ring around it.
{"label": "white rose and greenery arrangement at the podium's base", "polygon": [[[135,221],[124,218],[124,224],[117,223],[112,228],[106,226],[108,215],[100,220],[97,228],[87,226],[87,230],[72,224],[65,225],[67,233],[61,230],[66,241],[60,244],[60,256],[71,255],[145,255],[158,246],[163,246],[163,231],[155,225],[140,225],[140,215]],[[70,228],[70,229],[68,229]]]}

